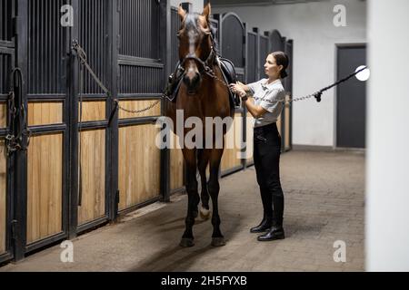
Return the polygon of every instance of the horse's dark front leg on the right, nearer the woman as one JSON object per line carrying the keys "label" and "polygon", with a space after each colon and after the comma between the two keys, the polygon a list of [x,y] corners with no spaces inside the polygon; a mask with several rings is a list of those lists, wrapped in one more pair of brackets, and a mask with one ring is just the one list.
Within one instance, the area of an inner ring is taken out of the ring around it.
{"label": "horse's dark front leg on the right, nearer the woman", "polygon": [[219,168],[220,160],[222,159],[223,149],[214,149],[211,151],[210,156],[210,179],[209,179],[209,194],[212,198],[213,205],[213,215],[212,215],[212,225],[213,225],[213,235],[212,235],[212,246],[220,247],[225,245],[224,237],[220,230],[220,217],[219,217],[219,207],[218,207],[218,197],[219,197]]}

